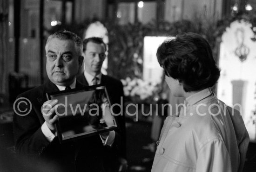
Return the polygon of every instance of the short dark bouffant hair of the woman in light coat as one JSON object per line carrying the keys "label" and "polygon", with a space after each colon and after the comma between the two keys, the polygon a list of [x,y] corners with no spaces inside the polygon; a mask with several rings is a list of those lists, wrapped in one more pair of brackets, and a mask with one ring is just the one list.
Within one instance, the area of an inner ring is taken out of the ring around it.
{"label": "short dark bouffant hair of the woman in light coat", "polygon": [[220,70],[206,39],[196,33],[184,33],[162,43],[157,60],[167,76],[182,82],[186,92],[212,87]]}

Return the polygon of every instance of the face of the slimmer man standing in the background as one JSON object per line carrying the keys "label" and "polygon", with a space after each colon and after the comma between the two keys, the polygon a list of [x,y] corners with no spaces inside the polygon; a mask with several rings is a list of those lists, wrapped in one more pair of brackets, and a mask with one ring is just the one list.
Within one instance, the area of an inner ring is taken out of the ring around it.
{"label": "face of the slimmer man standing in the background", "polygon": [[88,42],[83,56],[85,70],[93,76],[98,75],[106,57],[104,45]]}

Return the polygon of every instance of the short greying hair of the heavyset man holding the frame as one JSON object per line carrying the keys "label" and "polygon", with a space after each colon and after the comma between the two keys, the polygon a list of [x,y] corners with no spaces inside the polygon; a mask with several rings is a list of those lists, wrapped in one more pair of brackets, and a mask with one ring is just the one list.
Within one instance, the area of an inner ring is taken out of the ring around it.
{"label": "short greying hair of the heavyset man holding the frame", "polygon": [[54,34],[50,35],[47,38],[46,45],[53,38],[58,38],[60,40],[68,40],[68,39],[73,40],[74,43],[75,43],[77,52],[79,53],[79,55],[82,54],[82,48],[83,48],[82,47],[83,46],[82,45],[82,39],[79,36],[77,36],[75,33],[70,32],[70,31],[66,31],[66,30],[55,32]]}

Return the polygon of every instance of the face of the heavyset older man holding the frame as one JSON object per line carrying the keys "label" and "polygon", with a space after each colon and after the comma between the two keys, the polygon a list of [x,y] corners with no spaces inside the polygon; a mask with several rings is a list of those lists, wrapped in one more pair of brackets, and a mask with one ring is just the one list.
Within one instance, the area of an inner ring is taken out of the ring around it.
{"label": "face of the heavyset older man holding the frame", "polygon": [[72,84],[83,60],[76,51],[74,41],[53,38],[48,42],[45,50],[48,78],[57,85]]}

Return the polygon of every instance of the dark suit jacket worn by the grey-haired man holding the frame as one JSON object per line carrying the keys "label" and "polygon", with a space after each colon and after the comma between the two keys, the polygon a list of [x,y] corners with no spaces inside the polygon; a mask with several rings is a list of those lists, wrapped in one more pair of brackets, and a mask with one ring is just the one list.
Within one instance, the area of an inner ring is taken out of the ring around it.
{"label": "dark suit jacket worn by the grey-haired man holding the frame", "polygon": [[[82,87],[81,83],[76,82],[76,88]],[[52,142],[45,138],[41,130],[45,120],[40,109],[43,103],[47,101],[46,93],[55,91],[59,91],[56,85],[47,81],[47,83],[24,92],[17,97],[25,97],[31,102],[31,106],[29,103],[27,103],[27,106],[25,103],[20,103],[20,110],[32,109],[25,116],[14,113],[13,132],[16,152],[27,155],[26,157],[36,158],[39,160],[38,162],[43,160],[44,164],[49,163],[49,166],[54,164],[58,166],[61,172],[103,171],[104,159],[107,158],[105,151],[115,149],[115,142],[118,142],[116,139],[113,146],[109,148],[108,146],[103,146],[99,135],[64,144],[60,144],[57,137]],[[56,170],[54,169],[54,171]]]}

